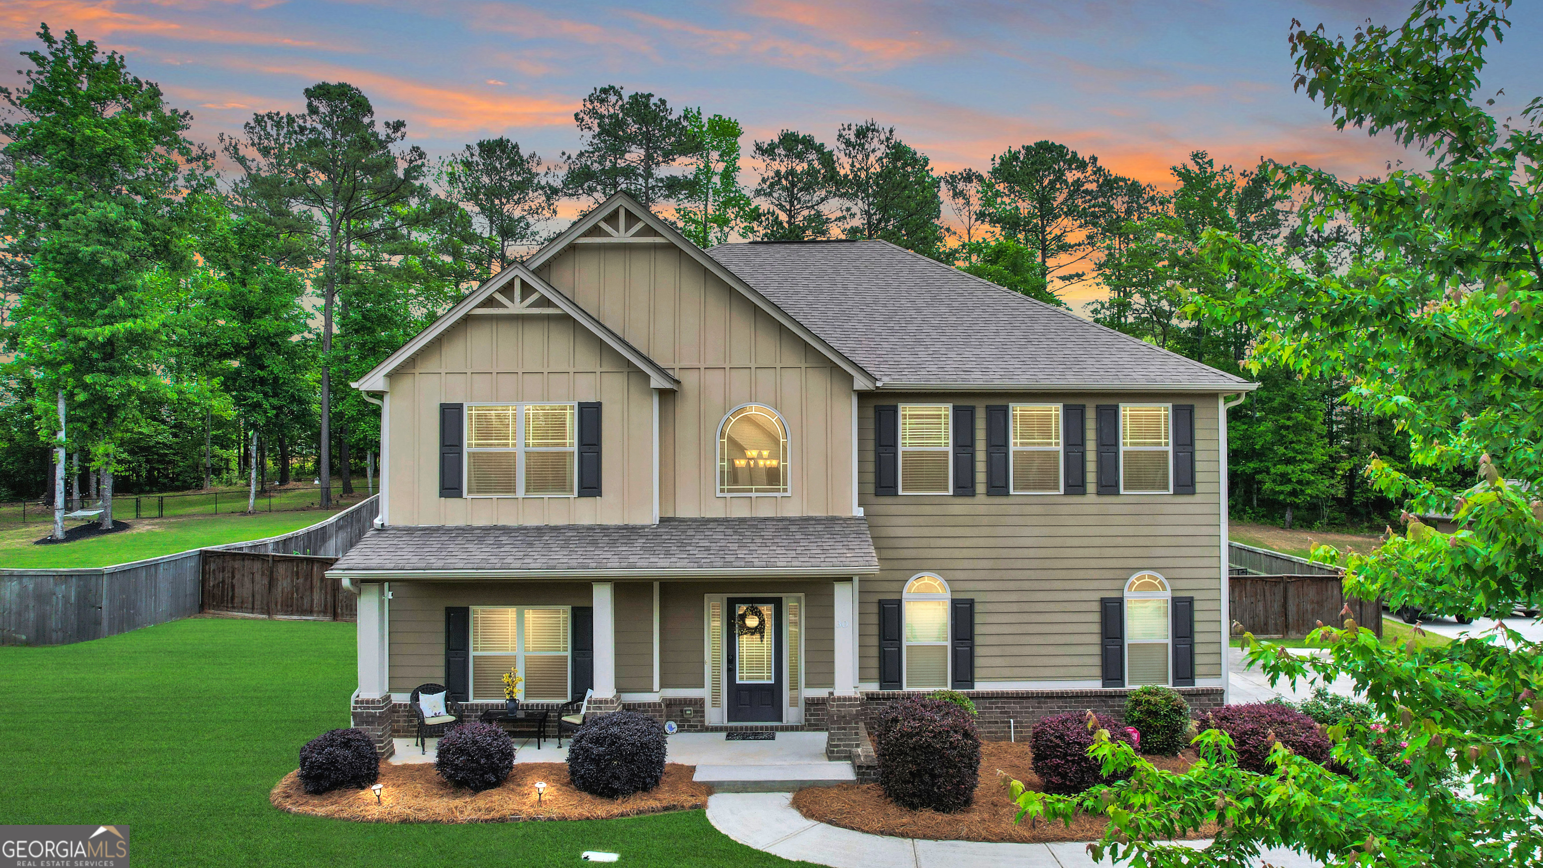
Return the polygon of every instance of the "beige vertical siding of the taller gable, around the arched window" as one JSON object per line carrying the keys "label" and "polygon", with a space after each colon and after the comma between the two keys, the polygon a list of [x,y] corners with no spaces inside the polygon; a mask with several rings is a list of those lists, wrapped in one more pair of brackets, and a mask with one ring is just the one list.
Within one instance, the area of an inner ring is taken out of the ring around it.
{"label": "beige vertical siding of the taller gable, around the arched window", "polygon": [[[852,375],[819,349],[673,244],[576,242],[540,276],[680,380],[659,395],[662,516],[852,514]],[[785,497],[717,496],[719,423],[745,403],[788,428]]]}

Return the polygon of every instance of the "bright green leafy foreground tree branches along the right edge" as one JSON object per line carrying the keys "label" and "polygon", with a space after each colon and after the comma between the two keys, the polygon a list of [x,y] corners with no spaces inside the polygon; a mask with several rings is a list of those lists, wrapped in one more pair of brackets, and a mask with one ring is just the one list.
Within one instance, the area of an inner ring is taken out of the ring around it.
{"label": "bright green leafy foreground tree branches along the right edge", "polygon": [[[1410,440],[1400,470],[1373,459],[1372,485],[1410,513],[1455,510],[1455,533],[1409,520],[1375,551],[1341,556],[1345,593],[1441,615],[1483,616],[1543,602],[1543,264],[1535,167],[1543,161],[1532,100],[1503,125],[1477,96],[1484,51],[1504,37],[1506,3],[1421,0],[1401,26],[1367,25],[1333,39],[1293,25],[1298,85],[1352,125],[1421,148],[1430,170],[1341,181],[1271,165],[1276,190],[1302,193],[1304,219],[1353,227],[1361,250],[1318,270],[1271,246],[1213,232],[1208,253],[1237,281],[1197,309],[1261,338],[1250,366],[1308,377],[1347,375],[1345,400],[1392,420]],[[1461,487],[1443,483],[1460,473]],[[1108,815],[1096,857],[1137,865],[1245,865],[1285,845],[1333,863],[1469,868],[1543,862],[1543,647],[1503,629],[1450,644],[1381,644],[1345,621],[1312,639],[1322,656],[1254,644],[1250,664],[1271,680],[1347,678],[1398,727],[1395,774],[1373,752],[1384,734],[1364,721],[1329,727],[1335,760],[1316,766],[1276,744],[1268,774],[1245,772],[1228,738],[1200,737],[1205,761],[1162,772],[1105,741],[1129,783],[1077,800],[1017,792],[1023,815]],[[1449,777],[1455,785],[1447,783]],[[1204,851],[1162,843],[1221,823]]]}

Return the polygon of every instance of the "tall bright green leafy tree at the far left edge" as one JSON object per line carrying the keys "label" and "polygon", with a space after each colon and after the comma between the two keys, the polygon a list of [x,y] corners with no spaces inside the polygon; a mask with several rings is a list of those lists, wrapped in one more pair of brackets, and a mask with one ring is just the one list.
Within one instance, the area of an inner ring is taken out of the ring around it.
{"label": "tall bright green leafy tree at the far left edge", "polygon": [[[39,39],[23,85],[0,88],[15,111],[0,124],[0,236],[26,263],[5,351],[46,439],[68,406],[69,445],[89,448],[111,502],[122,437],[171,389],[160,352],[181,287],[148,278],[191,259],[188,202],[207,190],[208,154],[120,54],[46,25]],[[102,520],[111,527],[111,513]]]}

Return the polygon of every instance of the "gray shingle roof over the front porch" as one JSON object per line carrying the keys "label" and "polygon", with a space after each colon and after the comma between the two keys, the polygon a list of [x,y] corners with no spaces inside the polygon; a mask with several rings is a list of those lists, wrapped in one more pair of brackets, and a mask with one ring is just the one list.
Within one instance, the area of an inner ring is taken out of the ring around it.
{"label": "gray shingle roof over the front porch", "polygon": [[844,516],[659,519],[657,525],[372,530],[329,573],[498,570],[866,570],[867,520]]}

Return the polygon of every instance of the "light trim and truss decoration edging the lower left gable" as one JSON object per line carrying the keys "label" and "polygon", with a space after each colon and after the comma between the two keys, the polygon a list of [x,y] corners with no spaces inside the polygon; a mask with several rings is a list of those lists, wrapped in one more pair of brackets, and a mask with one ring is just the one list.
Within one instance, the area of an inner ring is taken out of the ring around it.
{"label": "light trim and truss decoration edging the lower left gable", "polygon": [[[526,289],[531,290],[529,297],[525,295]],[[537,300],[548,301],[551,307],[537,306]],[[455,326],[466,317],[531,317],[549,314],[552,309],[577,320],[586,329],[594,332],[596,337],[609,344],[611,349],[620,352],[628,361],[648,374],[650,386],[656,389],[674,389],[680,385],[673,374],[660,368],[653,358],[648,358],[648,355],[640,352],[637,348],[622,340],[622,335],[617,335],[606,327],[605,323],[596,320],[588,310],[574,304],[571,298],[537,276],[525,264],[515,263],[469,292],[466,298],[461,298],[443,317],[435,320],[434,324],[414,335],[407,343],[401,344],[397,352],[387,355],[384,361],[376,364],[356,383],[352,383],[352,386],[366,392],[389,391],[386,377],[390,377],[390,374],[401,368],[404,361],[421,352],[423,348],[429,346],[429,343],[444,334],[446,329]]]}

